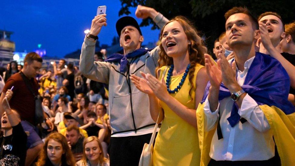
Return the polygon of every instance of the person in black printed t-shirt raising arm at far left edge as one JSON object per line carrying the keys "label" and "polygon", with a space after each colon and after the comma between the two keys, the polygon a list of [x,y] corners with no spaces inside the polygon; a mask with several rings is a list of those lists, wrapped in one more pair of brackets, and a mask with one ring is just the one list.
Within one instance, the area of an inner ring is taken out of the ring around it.
{"label": "person in black printed t-shirt raising arm at far left edge", "polygon": [[[5,98],[9,101],[11,96],[12,92],[8,90]],[[19,114],[9,108],[5,98],[2,101],[5,112],[1,118],[0,165],[25,165],[27,135]]]}

